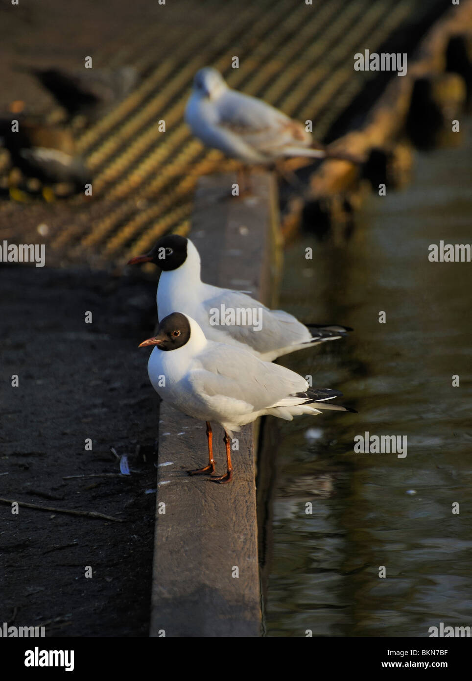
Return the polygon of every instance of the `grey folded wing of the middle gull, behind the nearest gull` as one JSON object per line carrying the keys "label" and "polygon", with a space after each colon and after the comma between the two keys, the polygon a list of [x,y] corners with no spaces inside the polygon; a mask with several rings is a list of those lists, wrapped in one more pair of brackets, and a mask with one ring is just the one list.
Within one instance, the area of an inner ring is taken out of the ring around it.
{"label": "grey folded wing of the middle gull, behind the nearest gull", "polygon": [[[273,352],[290,345],[297,343],[309,343],[311,340],[311,333],[302,323],[292,315],[282,310],[269,310],[258,300],[250,298],[239,291],[230,291],[229,289],[222,289],[222,291],[213,298],[203,301],[205,308],[209,312],[212,308],[220,309],[224,304],[225,308],[236,309],[253,309],[256,310],[258,319],[261,320],[262,327],[260,330],[254,330],[254,326],[214,326],[216,331],[224,331],[231,335],[232,338],[245,343],[252,347],[256,352],[265,354]],[[254,321],[254,315],[252,315]],[[258,320],[257,320],[258,321]],[[224,338],[222,338],[224,342]]]}

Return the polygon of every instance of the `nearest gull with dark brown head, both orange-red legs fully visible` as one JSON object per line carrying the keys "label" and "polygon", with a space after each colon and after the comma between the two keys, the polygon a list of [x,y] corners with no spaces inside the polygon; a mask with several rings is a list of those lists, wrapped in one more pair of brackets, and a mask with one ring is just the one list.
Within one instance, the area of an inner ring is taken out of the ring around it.
{"label": "nearest gull with dark brown head, both orange-red legs fully visible", "polygon": [[208,465],[190,475],[214,473],[210,422],[224,428],[226,474],[212,482],[231,480],[230,437],[241,426],[271,414],[292,421],[299,414],[320,414],[322,409],[354,411],[325,400],[341,396],[337,390],[318,390],[294,371],[262,362],[247,350],[207,340],[188,315],[173,312],[162,319],[156,336],[139,347],[154,345],[148,375],[154,390],[175,409],[207,422]]}

